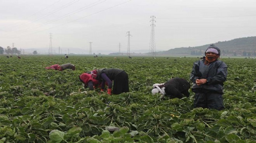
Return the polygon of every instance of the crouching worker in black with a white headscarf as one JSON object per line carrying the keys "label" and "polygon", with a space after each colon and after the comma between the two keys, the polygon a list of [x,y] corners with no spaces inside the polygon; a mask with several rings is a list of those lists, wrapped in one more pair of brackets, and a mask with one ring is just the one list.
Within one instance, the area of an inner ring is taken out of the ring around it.
{"label": "crouching worker in black with a white headscarf", "polygon": [[161,93],[170,99],[179,98],[181,99],[183,95],[189,97],[190,84],[187,80],[183,78],[172,78],[166,83],[156,83],[153,85],[152,94]]}

